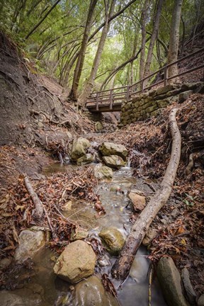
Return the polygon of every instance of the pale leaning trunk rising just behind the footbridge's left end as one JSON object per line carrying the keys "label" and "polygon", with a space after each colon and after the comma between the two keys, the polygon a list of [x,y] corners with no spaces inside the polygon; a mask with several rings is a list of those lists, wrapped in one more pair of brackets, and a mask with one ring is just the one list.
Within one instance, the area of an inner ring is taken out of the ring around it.
{"label": "pale leaning trunk rising just behind the footbridge's left end", "polygon": [[[100,63],[100,60],[101,60],[101,54],[102,54],[102,51],[103,51],[103,47],[105,45],[106,36],[107,36],[108,30],[111,26],[111,22],[109,22],[109,19],[111,18],[112,14],[113,14],[113,11],[114,11],[114,8],[115,8],[115,2],[116,2],[116,0],[111,1],[109,13],[108,13],[108,8],[106,9],[106,23],[105,23],[105,26],[103,26],[101,38],[100,38],[100,41],[98,43],[98,48],[97,48],[96,55],[95,55],[95,58],[94,58],[94,63],[93,63],[92,68],[91,68],[91,74],[90,74],[89,79],[86,83],[85,89],[84,89],[83,93],[81,94],[81,97],[79,98],[79,104],[81,106],[84,106],[89,94],[91,94],[91,90],[94,87],[94,80],[96,78],[96,74],[97,74],[97,71],[98,71],[98,66],[99,66],[99,63]],[[110,2],[109,2],[109,4],[110,4]]]}

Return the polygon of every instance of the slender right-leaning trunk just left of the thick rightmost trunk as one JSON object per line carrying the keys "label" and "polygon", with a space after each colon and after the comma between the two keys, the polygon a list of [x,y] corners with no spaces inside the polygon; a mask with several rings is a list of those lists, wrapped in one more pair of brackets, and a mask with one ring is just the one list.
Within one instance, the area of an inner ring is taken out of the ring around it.
{"label": "slender right-leaning trunk just left of the thick rightmost trunk", "polygon": [[157,39],[157,35],[158,35],[159,20],[160,20],[160,16],[161,16],[163,2],[164,2],[164,0],[159,0],[158,4],[157,4],[157,13],[156,13],[156,17],[155,17],[155,20],[154,20],[154,27],[153,27],[153,30],[152,30],[151,40],[149,42],[149,48],[148,48],[148,53],[147,53],[147,60],[146,60],[146,64],[145,64],[144,77],[147,77],[147,75],[150,72],[150,65],[151,65],[151,61],[152,61],[152,54],[153,54],[153,49],[154,49],[154,43],[155,43],[155,40]]}

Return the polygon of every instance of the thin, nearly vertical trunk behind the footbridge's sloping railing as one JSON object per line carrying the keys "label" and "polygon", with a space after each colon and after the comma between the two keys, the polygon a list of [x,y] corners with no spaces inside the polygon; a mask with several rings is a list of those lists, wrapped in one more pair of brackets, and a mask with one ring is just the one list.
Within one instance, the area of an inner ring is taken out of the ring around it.
{"label": "thin, nearly vertical trunk behind the footbridge's sloping railing", "polygon": [[145,0],[145,4],[142,8],[142,14],[141,14],[142,42],[141,42],[141,52],[140,52],[140,79],[143,79],[145,72],[146,21],[147,21],[148,4],[149,0]]}

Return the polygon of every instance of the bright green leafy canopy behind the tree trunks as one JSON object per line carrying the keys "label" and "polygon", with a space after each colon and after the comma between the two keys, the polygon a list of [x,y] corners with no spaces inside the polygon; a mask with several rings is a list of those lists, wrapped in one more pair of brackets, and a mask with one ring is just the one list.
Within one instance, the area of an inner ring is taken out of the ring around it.
{"label": "bright green leafy canopy behind the tree trunks", "polygon": [[[128,0],[116,1],[115,12],[120,11]],[[26,53],[26,57],[33,57],[36,66],[42,72],[57,77],[64,86],[71,86],[74,74],[74,55],[79,52],[84,33],[89,5],[87,1],[61,0],[50,12],[45,20],[36,28],[32,35],[25,40],[26,35],[42,20],[55,0],[1,0],[0,28],[6,31]],[[135,1],[123,14],[115,18],[106,39],[105,47],[98,68],[95,88],[99,89],[103,81],[113,69],[130,59],[140,49],[141,45],[141,10],[144,0]],[[147,32],[152,33],[154,25],[155,7],[157,1],[149,1],[147,8]],[[171,12],[174,1],[166,0],[162,8],[158,38],[168,46],[171,25]],[[202,0],[183,1],[182,17],[185,23],[185,38],[192,33],[193,25],[203,20],[204,7]],[[98,0],[94,11],[94,23],[91,33],[105,20],[104,1]],[[91,66],[98,46],[101,30],[89,41],[86,58],[80,80],[80,88],[89,77]],[[181,36],[183,29],[181,26]],[[148,35],[147,35],[148,36]],[[137,43],[136,43],[137,42]],[[136,49],[134,51],[134,44]],[[149,42],[146,47],[148,48]],[[147,51],[147,50],[146,50]],[[151,70],[159,69],[166,62],[166,52],[159,43],[154,46]],[[133,64],[127,64],[115,76],[114,86],[125,85],[139,78],[140,57]],[[132,70],[131,70],[132,69]],[[110,84],[110,83],[108,83]],[[107,85],[108,86],[108,85]]]}

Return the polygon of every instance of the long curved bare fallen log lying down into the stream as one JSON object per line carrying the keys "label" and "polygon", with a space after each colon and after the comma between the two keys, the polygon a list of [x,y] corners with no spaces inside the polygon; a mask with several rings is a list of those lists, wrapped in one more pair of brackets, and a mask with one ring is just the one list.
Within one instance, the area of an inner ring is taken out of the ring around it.
{"label": "long curved bare fallen log lying down into the stream", "polygon": [[166,204],[166,201],[171,194],[171,188],[176,177],[176,171],[179,166],[181,155],[181,134],[176,123],[176,111],[177,108],[174,108],[169,115],[169,126],[173,141],[171,158],[166,168],[164,179],[162,180],[159,190],[151,200],[149,200],[145,209],[142,210],[134,225],[132,225],[132,229],[125,241],[123,249],[120,251],[120,255],[112,267],[111,273],[114,278],[124,281],[128,277],[132,261],[135,258],[134,256],[137,253],[145,234],[147,234],[149,225],[151,225],[159,210]]}

